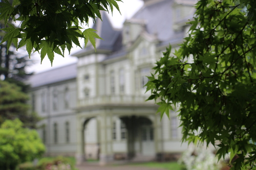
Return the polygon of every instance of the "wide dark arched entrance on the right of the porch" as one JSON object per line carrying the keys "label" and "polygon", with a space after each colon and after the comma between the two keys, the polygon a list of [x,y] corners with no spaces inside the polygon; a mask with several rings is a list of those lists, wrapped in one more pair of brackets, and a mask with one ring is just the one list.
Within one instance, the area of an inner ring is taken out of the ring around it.
{"label": "wide dark arched entrance on the right of the porch", "polygon": [[127,130],[127,158],[155,156],[154,126],[146,116],[121,116]]}

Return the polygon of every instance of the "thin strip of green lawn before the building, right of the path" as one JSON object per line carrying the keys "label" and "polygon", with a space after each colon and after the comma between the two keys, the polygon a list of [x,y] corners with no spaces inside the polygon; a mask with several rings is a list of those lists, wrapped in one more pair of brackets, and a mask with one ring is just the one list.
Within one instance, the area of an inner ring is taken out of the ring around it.
{"label": "thin strip of green lawn before the building, right of the path", "polygon": [[182,170],[182,165],[177,162],[145,162],[145,163],[133,163],[135,166],[147,166],[155,168],[163,168],[168,170]]}

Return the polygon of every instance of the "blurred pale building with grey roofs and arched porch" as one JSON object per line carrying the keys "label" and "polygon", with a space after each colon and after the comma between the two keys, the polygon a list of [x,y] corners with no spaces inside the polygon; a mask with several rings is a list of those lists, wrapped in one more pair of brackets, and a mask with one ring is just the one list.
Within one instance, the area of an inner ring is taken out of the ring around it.
{"label": "blurred pale building with grey roofs and arched porch", "polygon": [[194,0],[147,0],[118,30],[102,13],[97,51],[88,45],[76,64],[30,78],[32,107],[44,119],[38,130],[48,155],[99,158],[176,158],[181,145],[177,113],[156,114],[143,87],[169,43],[178,47],[194,13]]}

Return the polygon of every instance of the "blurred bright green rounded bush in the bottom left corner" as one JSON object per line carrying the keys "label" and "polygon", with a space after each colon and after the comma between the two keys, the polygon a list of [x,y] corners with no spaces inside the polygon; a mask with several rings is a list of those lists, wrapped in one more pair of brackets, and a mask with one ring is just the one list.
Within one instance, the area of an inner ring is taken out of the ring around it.
{"label": "blurred bright green rounded bush in the bottom left corner", "polygon": [[0,169],[16,169],[19,163],[32,161],[44,154],[36,130],[23,128],[20,120],[6,120],[0,127]]}

